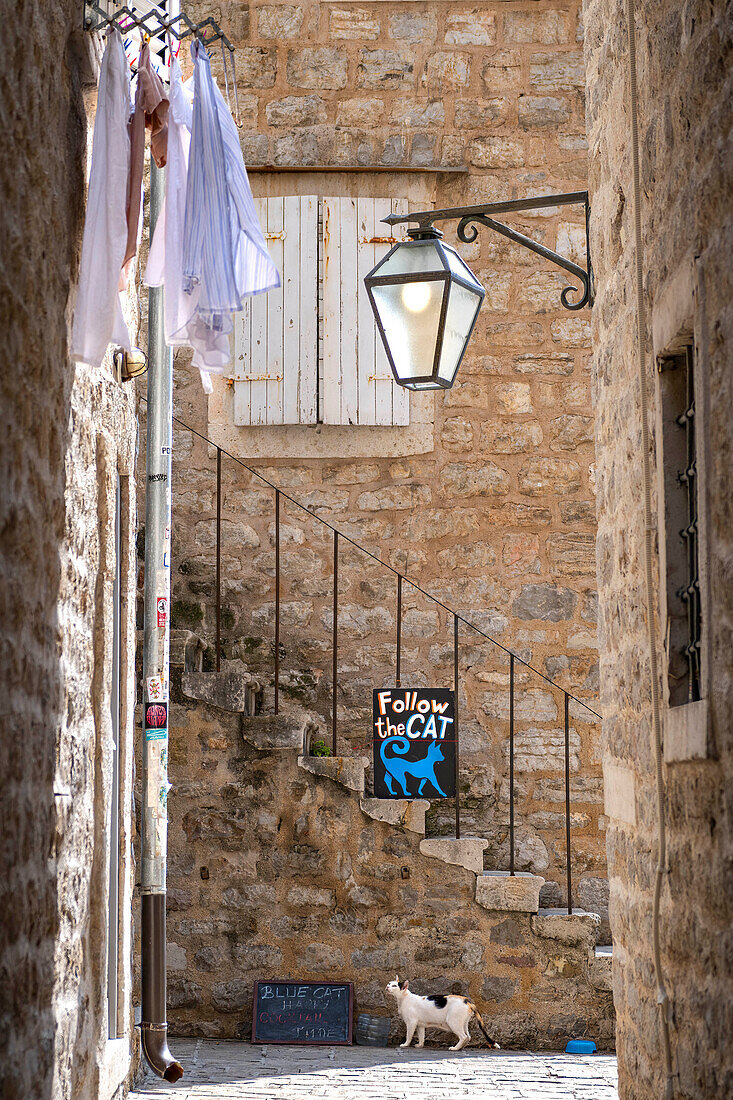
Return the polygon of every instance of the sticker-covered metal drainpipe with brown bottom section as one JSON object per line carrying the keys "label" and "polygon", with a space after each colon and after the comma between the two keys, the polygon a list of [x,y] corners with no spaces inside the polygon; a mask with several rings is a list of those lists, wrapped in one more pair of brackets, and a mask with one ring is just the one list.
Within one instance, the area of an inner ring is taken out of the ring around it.
{"label": "sticker-covered metal drainpipe with brown bottom section", "polygon": [[[163,169],[151,157],[151,240],[163,202],[164,178]],[[141,1041],[151,1069],[166,1081],[177,1081],[183,1067],[168,1049],[165,1011],[173,350],[165,344],[162,288],[151,287],[147,301]],[[153,680],[164,685],[162,691]]]}

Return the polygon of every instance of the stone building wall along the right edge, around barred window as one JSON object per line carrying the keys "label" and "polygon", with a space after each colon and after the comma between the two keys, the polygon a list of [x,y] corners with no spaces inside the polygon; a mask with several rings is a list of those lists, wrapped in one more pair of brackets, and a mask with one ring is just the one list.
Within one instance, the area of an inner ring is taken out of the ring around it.
{"label": "stone building wall along the right edge, around barred window", "polygon": [[[693,337],[701,479],[702,703],[667,705],[668,868],[661,948],[671,998],[674,1094],[733,1091],[730,883],[731,714],[730,26],[723,6],[637,6],[647,392],[655,509],[659,380],[655,356]],[[625,6],[584,4],[597,411],[602,710],[614,999],[622,1097],[661,1096],[664,1058],[652,957],[657,845],[643,501]],[[659,525],[656,549],[664,534]],[[659,568],[655,561],[655,606]],[[660,672],[664,629],[657,626]],[[687,713],[683,713],[687,712]],[[681,736],[680,736],[681,729]],[[675,736],[677,730],[677,736]],[[696,744],[697,743],[697,744]],[[686,759],[687,757],[687,759]],[[675,759],[676,758],[676,759]]]}

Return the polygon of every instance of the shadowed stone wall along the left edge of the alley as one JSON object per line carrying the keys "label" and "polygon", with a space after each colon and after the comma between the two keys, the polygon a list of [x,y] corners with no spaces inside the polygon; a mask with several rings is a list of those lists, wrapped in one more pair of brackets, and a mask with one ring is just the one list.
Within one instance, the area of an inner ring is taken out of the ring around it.
{"label": "shadowed stone wall along the left edge of the alley", "polygon": [[[122,1043],[113,1056],[106,1043],[106,910],[116,474],[131,652],[134,393],[107,369],[68,359],[94,110],[83,85],[95,79],[79,4],[4,4],[3,15],[0,1076],[9,1100],[107,1100],[128,1074],[132,1043],[129,916],[120,924]],[[127,663],[121,683],[120,906],[129,912]]]}

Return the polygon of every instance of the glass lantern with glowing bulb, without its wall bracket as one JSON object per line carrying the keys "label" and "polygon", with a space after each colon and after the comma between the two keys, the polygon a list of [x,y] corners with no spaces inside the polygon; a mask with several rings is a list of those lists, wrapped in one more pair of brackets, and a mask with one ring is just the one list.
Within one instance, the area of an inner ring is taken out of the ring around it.
{"label": "glass lantern with glowing bulb, without its wall bracket", "polygon": [[485,290],[439,229],[408,230],[364,285],[398,385],[449,389]]}

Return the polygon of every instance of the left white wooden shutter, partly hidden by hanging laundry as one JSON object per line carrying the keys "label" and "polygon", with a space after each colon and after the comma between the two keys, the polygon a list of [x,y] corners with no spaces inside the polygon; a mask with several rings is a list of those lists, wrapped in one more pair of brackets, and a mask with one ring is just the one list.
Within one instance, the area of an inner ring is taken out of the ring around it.
{"label": "left white wooden shutter, partly hidden by hanging laundry", "polygon": [[282,286],[234,317],[234,424],[316,424],[318,199],[254,204]]}

